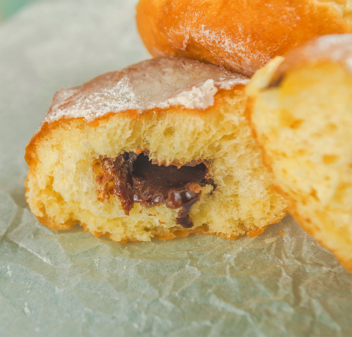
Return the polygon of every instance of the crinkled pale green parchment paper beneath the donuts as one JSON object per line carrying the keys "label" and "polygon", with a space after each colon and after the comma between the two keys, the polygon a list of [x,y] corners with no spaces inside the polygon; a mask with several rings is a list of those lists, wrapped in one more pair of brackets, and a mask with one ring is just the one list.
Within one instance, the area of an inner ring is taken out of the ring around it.
{"label": "crinkled pale green parchment paper beneath the donuts", "polygon": [[58,88],[149,58],[134,5],[39,1],[2,24],[1,336],[351,336],[351,274],[290,216],[126,245],[32,216],[25,145]]}

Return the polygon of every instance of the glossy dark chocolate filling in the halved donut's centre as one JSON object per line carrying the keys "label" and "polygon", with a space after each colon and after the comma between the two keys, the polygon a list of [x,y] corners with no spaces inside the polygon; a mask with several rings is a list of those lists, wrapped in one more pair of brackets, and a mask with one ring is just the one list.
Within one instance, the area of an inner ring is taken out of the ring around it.
{"label": "glossy dark chocolate filling in the halved donut's centre", "polygon": [[202,186],[214,181],[207,179],[205,164],[189,163],[177,166],[158,166],[149,161],[146,152],[137,155],[125,152],[116,158],[102,158],[95,162],[96,181],[105,186],[99,200],[118,195],[122,208],[129,215],[134,203],[151,207],[165,204],[181,208],[176,223],[184,228],[193,226],[189,212],[200,198]]}

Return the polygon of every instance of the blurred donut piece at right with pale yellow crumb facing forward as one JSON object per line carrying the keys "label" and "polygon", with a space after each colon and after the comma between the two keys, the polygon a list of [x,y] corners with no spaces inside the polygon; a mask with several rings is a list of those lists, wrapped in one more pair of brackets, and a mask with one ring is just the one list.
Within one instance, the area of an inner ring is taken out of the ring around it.
{"label": "blurred donut piece at right with pale yellow crumb facing forward", "polygon": [[277,57],[248,85],[247,113],[290,212],[352,269],[352,34]]}

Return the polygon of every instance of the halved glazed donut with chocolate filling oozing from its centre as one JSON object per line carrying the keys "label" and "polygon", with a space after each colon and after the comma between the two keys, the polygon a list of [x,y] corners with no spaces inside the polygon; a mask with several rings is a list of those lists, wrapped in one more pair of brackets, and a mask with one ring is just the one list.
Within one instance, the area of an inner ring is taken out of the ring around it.
{"label": "halved glazed donut with chocolate filling oozing from its centre", "polygon": [[59,90],[26,147],[32,213],[118,242],[260,234],[287,206],[244,115],[247,82],[160,58]]}

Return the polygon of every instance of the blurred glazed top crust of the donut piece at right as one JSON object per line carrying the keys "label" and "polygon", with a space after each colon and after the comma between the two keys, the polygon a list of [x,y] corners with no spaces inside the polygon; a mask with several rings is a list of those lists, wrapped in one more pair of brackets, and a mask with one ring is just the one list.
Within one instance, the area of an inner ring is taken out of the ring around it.
{"label": "blurred glazed top crust of the donut piece at right", "polygon": [[324,60],[340,63],[352,73],[352,34],[320,36],[291,50],[273,74],[271,86],[289,70]]}

